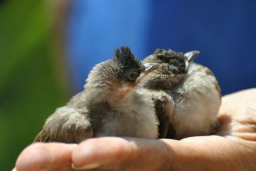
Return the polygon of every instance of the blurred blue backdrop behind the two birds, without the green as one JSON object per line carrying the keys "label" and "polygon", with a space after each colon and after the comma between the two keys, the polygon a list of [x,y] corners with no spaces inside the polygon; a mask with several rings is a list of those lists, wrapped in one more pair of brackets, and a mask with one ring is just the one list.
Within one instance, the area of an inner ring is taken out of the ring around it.
{"label": "blurred blue backdrop behind the two birds, without the green", "polygon": [[74,91],[120,45],[143,59],[156,48],[200,50],[222,93],[256,85],[256,1],[74,1],[68,25]]}

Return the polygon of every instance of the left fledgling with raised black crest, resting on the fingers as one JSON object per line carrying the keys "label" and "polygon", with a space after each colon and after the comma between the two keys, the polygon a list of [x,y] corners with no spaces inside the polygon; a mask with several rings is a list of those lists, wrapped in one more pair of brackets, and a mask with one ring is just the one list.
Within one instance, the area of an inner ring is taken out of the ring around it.
{"label": "left fledgling with raised black crest, resting on the fingers", "polygon": [[142,64],[128,47],[93,67],[84,91],[48,117],[35,142],[79,143],[103,136],[158,137],[154,102],[143,93],[145,76],[159,64]]}

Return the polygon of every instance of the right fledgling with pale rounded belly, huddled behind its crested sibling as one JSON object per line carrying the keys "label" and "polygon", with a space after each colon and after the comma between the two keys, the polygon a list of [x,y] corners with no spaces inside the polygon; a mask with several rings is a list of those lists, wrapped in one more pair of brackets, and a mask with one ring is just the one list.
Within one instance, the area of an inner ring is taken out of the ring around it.
{"label": "right fledgling with pale rounded belly, huddled behind its crested sibling", "polygon": [[181,139],[218,130],[220,86],[209,68],[193,63],[198,54],[157,49],[143,60],[162,64],[144,85],[156,105],[160,138]]}

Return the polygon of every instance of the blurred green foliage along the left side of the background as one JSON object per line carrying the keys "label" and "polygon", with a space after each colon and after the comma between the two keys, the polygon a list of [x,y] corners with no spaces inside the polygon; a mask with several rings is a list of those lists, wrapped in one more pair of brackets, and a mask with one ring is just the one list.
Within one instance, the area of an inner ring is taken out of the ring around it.
{"label": "blurred green foliage along the left side of the background", "polygon": [[60,87],[66,82],[57,82],[52,64],[48,7],[41,0],[0,4],[0,170],[13,168],[47,116],[67,101]]}

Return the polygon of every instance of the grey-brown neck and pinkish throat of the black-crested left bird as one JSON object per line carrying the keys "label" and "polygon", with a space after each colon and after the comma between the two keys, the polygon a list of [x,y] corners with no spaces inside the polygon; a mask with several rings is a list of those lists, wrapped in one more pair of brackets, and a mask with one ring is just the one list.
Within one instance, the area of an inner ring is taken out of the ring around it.
{"label": "grey-brown neck and pinkish throat of the black-crested left bird", "polygon": [[116,74],[115,66],[110,60],[93,68],[84,85],[88,107],[108,103],[109,107],[118,108],[136,96],[134,89],[138,85],[133,87],[131,83],[124,83],[118,80]]}

